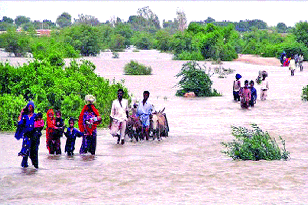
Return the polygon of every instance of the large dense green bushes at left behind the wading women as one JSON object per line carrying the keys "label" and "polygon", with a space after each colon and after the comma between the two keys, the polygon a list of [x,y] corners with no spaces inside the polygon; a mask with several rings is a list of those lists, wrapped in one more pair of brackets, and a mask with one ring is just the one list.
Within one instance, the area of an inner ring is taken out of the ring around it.
{"label": "large dense green bushes at left behind the wading women", "polygon": [[[63,59],[56,54],[50,56],[18,67],[0,63],[0,73],[3,73],[0,78],[1,131],[14,130],[20,110],[30,99],[35,103],[35,112],[61,109],[64,119],[78,118],[87,94],[97,98],[96,107],[102,116],[102,125],[109,123],[112,101],[123,85],[99,77],[90,61],[77,63],[73,60],[64,67]],[[124,97],[129,99],[127,89],[124,91]]]}

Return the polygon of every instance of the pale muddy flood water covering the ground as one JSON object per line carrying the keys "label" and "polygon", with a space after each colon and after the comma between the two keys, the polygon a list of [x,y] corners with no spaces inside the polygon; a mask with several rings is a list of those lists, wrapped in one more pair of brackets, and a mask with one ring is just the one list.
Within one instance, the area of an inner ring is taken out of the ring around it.
{"label": "pale muddy flood water covering the ground", "polygon": [[[301,101],[308,84],[308,65],[290,76],[287,68],[226,62],[236,70],[227,78],[213,75],[213,88],[222,97],[176,97],[175,75],[184,61],[172,61],[158,51],[122,52],[119,59],[104,52],[88,57],[96,72],[110,80],[125,79],[129,94],[142,99],[144,90],[157,110],[165,107],[170,126],[162,142],[142,141],[117,145],[107,129],[99,129],[97,154],[68,157],[49,156],[45,133],[39,150],[40,169],[20,167],[17,153],[21,141],[14,133],[0,133],[1,204],[306,204],[308,201],[308,103]],[[7,58],[12,64],[21,58]],[[123,67],[130,60],[151,66],[153,75],[126,76]],[[206,63],[206,67],[217,65]],[[236,73],[254,80],[267,70],[269,90],[254,108],[242,110],[233,102]],[[19,111],[16,111],[19,112]],[[221,142],[231,141],[231,125],[249,127],[256,123],[290,152],[288,161],[234,161],[220,151]],[[62,151],[65,137],[62,138]],[[76,141],[76,151],[81,139]],[[31,162],[29,161],[29,165]]]}

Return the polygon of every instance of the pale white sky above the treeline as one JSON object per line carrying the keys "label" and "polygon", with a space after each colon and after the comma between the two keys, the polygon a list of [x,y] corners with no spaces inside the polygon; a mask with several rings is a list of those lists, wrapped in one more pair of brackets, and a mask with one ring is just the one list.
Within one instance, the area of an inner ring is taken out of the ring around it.
{"label": "pale white sky above the treeline", "polygon": [[259,19],[268,26],[276,26],[283,22],[294,26],[297,22],[308,18],[306,10],[308,1],[0,1],[0,19],[3,16],[13,20],[17,16],[30,17],[34,20],[56,19],[63,12],[74,18],[78,14],[91,15],[100,22],[112,17],[119,17],[125,22],[129,16],[137,15],[138,8],[149,6],[162,25],[163,20],[176,18],[177,9],[184,11],[187,25],[191,21],[216,21]]}

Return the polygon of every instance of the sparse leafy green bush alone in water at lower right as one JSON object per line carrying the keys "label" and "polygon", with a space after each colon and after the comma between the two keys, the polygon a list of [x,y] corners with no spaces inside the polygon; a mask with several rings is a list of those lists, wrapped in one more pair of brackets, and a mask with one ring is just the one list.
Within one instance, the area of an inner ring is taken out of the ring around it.
{"label": "sparse leafy green bush alone in water at lower right", "polygon": [[253,160],[287,160],[289,152],[285,149],[285,141],[279,136],[283,148],[280,149],[274,138],[268,132],[263,132],[256,124],[251,124],[252,130],[232,126],[232,142],[222,142],[227,151],[221,151],[232,159]]}

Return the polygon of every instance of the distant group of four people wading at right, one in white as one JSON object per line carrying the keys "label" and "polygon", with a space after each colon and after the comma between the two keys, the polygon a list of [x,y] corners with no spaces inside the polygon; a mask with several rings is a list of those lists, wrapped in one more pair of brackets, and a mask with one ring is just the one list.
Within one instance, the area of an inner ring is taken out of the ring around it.
{"label": "distant group of four people wading at right, one in white", "polygon": [[[268,76],[266,71],[259,71],[259,75],[256,79],[257,83],[261,85],[261,100],[266,100],[268,81],[266,77]],[[253,80],[250,82],[245,80],[244,86],[241,87],[240,79],[242,76],[240,74],[235,75],[235,79],[233,81],[233,99],[234,101],[241,102],[241,108],[248,109],[249,107],[254,107],[257,100],[257,90],[254,87],[255,83]]]}

